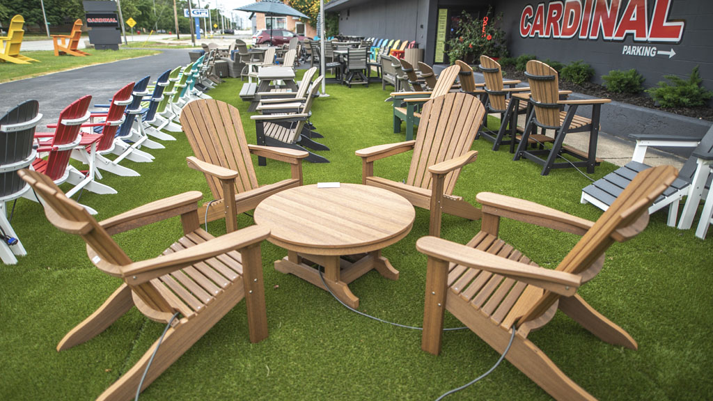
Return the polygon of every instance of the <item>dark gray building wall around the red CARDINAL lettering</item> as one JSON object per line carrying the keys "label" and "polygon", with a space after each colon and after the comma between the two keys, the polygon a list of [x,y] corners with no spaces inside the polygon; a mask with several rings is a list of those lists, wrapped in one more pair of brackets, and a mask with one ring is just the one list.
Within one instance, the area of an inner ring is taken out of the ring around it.
{"label": "dark gray building wall around the red CARDINAL lettering", "polygon": [[[582,0],[583,1],[583,0]],[[607,0],[607,3],[610,4]],[[619,0],[613,0],[615,2]],[[665,2],[666,0],[659,0]],[[585,60],[595,68],[594,81],[601,83],[601,76],[611,70],[628,70],[636,68],[646,81],[645,86],[655,86],[663,80],[665,74],[688,76],[694,66],[700,67],[704,86],[713,89],[713,1],[711,0],[672,0],[668,21],[684,21],[683,36],[679,43],[662,43],[661,41],[635,42],[631,35],[624,41],[607,41],[602,39],[540,39],[523,38],[520,36],[520,16],[523,8],[530,4],[534,9],[538,4],[546,6],[553,1],[510,0],[493,2],[496,12],[503,12],[503,29],[508,34],[508,49],[513,56],[520,54],[535,54],[538,59],[552,59],[568,63],[575,60]],[[622,16],[628,0],[621,0],[619,15]],[[647,21],[651,24],[652,10],[656,0],[647,0]],[[652,46],[657,51],[674,50],[675,55],[669,58],[665,54],[656,56],[635,56],[622,54],[624,46]]]}

